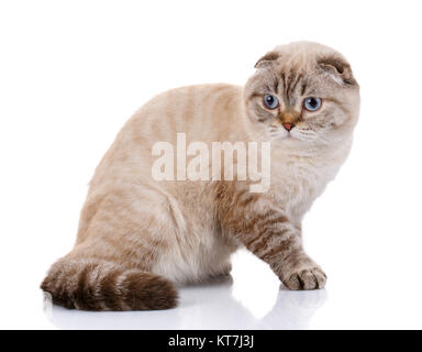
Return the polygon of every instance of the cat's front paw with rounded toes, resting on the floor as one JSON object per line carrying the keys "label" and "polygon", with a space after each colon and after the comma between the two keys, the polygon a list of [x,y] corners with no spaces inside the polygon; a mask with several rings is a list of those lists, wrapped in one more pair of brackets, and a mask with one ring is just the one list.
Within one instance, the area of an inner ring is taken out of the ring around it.
{"label": "cat's front paw with rounded toes, resting on the floor", "polygon": [[281,278],[282,284],[293,290],[323,288],[326,275],[319,266],[301,267]]}

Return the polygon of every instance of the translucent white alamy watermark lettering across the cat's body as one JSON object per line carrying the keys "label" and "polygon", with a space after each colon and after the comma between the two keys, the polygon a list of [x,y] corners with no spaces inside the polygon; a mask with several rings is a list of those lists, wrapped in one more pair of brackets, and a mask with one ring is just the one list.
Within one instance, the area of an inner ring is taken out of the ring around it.
{"label": "translucent white alamy watermark lettering across the cat's body", "polygon": [[[211,148],[211,150],[210,150]],[[191,142],[177,133],[169,142],[153,145],[155,180],[248,180],[251,193],[265,193],[270,185],[269,142]]]}

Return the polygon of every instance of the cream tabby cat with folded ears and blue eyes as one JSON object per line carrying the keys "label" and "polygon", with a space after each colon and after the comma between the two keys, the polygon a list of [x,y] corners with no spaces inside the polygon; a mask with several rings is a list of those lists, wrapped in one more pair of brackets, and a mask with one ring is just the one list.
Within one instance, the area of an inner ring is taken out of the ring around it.
{"label": "cream tabby cat with folded ears and blue eyes", "polygon": [[[74,249],[42,283],[53,302],[84,310],[168,309],[176,284],[226,275],[246,248],[292,290],[326,276],[302,248],[301,220],[352,146],[359,86],[322,44],[276,46],[244,87],[160,94],[134,113],[98,165]],[[156,180],[157,141],[270,142],[270,187],[251,180]]]}

